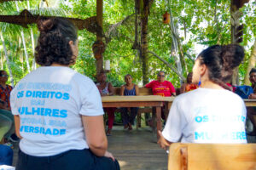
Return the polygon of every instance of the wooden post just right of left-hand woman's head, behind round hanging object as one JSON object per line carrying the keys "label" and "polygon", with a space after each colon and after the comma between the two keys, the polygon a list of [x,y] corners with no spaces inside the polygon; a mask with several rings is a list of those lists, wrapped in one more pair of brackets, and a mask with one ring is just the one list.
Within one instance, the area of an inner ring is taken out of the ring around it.
{"label": "wooden post just right of left-hand woman's head, behind round hanging object", "polygon": [[[103,22],[103,0],[96,0],[96,20],[98,26],[102,27]],[[102,27],[103,28],[103,27]],[[96,40],[102,41],[102,34],[97,32]],[[100,59],[96,59],[96,74],[100,73],[103,70],[103,54]]]}

